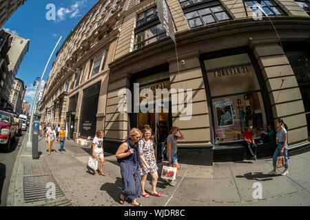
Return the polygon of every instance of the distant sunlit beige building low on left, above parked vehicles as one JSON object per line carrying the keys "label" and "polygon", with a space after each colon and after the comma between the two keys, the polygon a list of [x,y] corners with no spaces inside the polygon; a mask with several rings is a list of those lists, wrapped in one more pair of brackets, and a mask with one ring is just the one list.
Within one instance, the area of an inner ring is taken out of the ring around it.
{"label": "distant sunlit beige building low on left, above parked vehicles", "polygon": [[24,85],[23,80],[19,77],[15,78],[10,95],[10,103],[12,104],[12,111],[18,114],[23,113],[23,98],[25,96],[27,86]]}

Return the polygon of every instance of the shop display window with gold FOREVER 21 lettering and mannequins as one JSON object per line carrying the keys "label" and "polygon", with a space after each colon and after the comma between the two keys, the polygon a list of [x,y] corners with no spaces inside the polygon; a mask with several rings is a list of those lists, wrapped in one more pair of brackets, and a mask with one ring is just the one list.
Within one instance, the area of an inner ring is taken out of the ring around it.
{"label": "shop display window with gold FOREVER 21 lettering and mannequins", "polygon": [[213,109],[215,144],[243,140],[254,127],[254,137],[267,129],[265,107],[256,72],[248,54],[204,61]]}

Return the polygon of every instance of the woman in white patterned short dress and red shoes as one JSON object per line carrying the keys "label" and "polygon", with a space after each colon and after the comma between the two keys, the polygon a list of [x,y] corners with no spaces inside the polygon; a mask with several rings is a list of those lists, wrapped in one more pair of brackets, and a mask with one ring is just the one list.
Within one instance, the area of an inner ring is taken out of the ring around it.
{"label": "woman in white patterned short dress and red shoes", "polygon": [[154,151],[154,142],[151,140],[152,129],[145,126],[143,129],[143,138],[138,142],[141,163],[141,192],[142,196],[148,198],[149,195],[145,193],[145,181],[147,174],[152,176],[152,192],[151,195],[161,197],[161,194],[156,192],[156,185],[158,181],[158,167],[156,165],[156,157]]}

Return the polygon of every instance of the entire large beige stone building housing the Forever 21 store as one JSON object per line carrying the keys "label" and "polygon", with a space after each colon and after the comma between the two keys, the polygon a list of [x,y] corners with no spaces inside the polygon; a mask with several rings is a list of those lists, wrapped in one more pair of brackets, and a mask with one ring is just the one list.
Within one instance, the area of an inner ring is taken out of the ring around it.
{"label": "entire large beige stone building housing the Forever 21 store", "polygon": [[[189,164],[243,159],[243,131],[254,126],[259,138],[278,118],[289,126],[290,150],[307,146],[310,18],[308,1],[300,2],[167,0],[177,59],[156,1],[99,1],[57,54],[43,118],[65,124],[72,139],[104,129],[109,153],[132,127],[149,124],[159,159],[169,130],[178,126],[185,135],[178,157]],[[163,98],[170,110],[178,100],[192,104],[192,112],[143,113],[139,104],[155,109],[156,89],[171,91]],[[192,89],[192,99],[182,100],[182,89]],[[141,91],[140,99],[134,91]],[[120,111],[124,100],[128,112]],[[274,149],[274,143],[262,144],[258,156]]]}

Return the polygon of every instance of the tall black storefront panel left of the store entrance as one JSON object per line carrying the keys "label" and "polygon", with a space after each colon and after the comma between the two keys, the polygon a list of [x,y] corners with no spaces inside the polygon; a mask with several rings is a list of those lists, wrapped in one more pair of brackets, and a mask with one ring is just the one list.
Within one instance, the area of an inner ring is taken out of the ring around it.
{"label": "tall black storefront panel left of the store entrance", "polygon": [[94,137],[96,134],[96,114],[99,102],[100,85],[96,84],[83,91],[79,132],[81,137]]}

